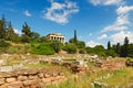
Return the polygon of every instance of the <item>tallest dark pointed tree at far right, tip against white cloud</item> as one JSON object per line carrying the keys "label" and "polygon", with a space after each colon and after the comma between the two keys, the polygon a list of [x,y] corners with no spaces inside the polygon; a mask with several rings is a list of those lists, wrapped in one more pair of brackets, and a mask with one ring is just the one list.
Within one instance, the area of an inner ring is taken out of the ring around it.
{"label": "tallest dark pointed tree at far right, tip against white cloud", "polygon": [[124,38],[124,45],[121,47],[121,56],[126,57],[127,56],[127,47],[129,47],[129,38],[127,36]]}

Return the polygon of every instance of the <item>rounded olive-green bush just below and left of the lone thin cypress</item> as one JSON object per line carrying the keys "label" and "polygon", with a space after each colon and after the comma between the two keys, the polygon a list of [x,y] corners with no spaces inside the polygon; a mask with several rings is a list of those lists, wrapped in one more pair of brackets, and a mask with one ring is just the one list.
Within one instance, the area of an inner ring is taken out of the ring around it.
{"label": "rounded olive-green bush just below and left of the lone thin cypress", "polygon": [[76,47],[75,44],[69,43],[69,44],[66,44],[66,45],[64,46],[63,50],[66,51],[69,54],[75,54],[76,51],[78,51],[78,47]]}

